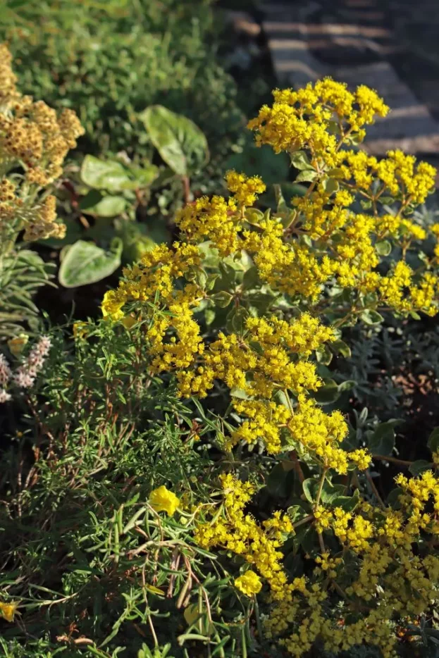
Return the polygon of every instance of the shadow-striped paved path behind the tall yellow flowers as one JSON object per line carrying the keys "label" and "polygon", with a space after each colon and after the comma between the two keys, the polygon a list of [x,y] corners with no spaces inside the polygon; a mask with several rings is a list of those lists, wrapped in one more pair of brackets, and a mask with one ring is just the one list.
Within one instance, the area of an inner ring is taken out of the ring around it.
{"label": "shadow-striped paved path behind the tall yellow flowers", "polygon": [[[366,149],[439,157],[439,0],[275,0],[265,1],[262,10],[279,85],[299,87],[325,75],[350,87],[369,85],[392,112],[369,128]],[[425,22],[438,28],[430,30],[431,42],[438,42],[438,73],[431,74],[436,84],[430,80],[429,87],[422,85],[421,68],[412,78],[404,72],[413,56],[408,37],[414,15],[422,16],[420,34]]]}

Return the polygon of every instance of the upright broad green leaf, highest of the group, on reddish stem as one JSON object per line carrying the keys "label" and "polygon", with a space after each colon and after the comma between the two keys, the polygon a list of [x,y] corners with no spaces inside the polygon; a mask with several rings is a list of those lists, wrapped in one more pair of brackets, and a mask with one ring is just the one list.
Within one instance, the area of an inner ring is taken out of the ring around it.
{"label": "upright broad green leaf, highest of the group, on reddish stem", "polygon": [[209,161],[206,136],[187,117],[161,105],[148,107],[139,117],[163,161],[178,175],[190,175]]}

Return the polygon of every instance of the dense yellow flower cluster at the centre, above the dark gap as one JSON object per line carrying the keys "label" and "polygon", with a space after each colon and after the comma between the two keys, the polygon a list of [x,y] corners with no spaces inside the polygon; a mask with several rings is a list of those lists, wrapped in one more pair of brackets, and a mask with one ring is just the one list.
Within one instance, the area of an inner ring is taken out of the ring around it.
{"label": "dense yellow flower cluster at the centre, above the dark gap", "polygon": [[[233,408],[245,420],[230,435],[229,448],[261,440],[268,452],[277,453],[283,448],[283,434],[287,443],[299,442],[310,450],[323,451],[334,444],[337,459],[329,457],[330,464],[346,472],[350,457],[335,447],[347,433],[345,420],[341,414],[326,416],[305,395],[321,385],[316,366],[306,357],[334,340],[333,331],[309,314],[290,322],[248,318],[245,329],[243,336],[219,333],[218,340],[202,350],[202,365],[178,371],[181,394],[205,397],[216,379],[238,388],[251,399],[233,397]],[[273,399],[278,391],[299,396],[295,414]]]}

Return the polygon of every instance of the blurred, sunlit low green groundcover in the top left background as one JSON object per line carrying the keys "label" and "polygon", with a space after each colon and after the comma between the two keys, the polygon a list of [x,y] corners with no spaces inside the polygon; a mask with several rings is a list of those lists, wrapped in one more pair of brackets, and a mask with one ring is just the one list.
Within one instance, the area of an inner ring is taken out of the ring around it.
{"label": "blurred, sunlit low green groundcover in the top left background", "polygon": [[80,149],[149,158],[139,114],[162,104],[206,133],[212,161],[203,178],[211,185],[244,124],[236,83],[216,57],[211,4],[8,0],[1,38],[16,58],[23,92],[78,112],[86,130]]}

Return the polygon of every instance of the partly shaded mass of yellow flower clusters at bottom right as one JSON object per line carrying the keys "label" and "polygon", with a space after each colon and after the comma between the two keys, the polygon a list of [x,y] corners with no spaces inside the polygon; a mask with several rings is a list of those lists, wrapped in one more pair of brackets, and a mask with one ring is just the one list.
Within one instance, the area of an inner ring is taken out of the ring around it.
{"label": "partly shaded mass of yellow flower clusters at bottom right", "polygon": [[[268,638],[277,638],[288,654],[297,658],[306,654],[318,638],[328,651],[350,650],[354,645],[368,643],[381,647],[385,657],[395,658],[397,638],[388,622],[395,611],[407,617],[419,614],[431,604],[435,599],[439,559],[430,556],[421,560],[413,554],[406,559],[395,555],[394,551],[391,555],[394,533],[387,536],[386,530],[390,527],[388,521],[392,523],[392,511],[378,511],[364,504],[364,509],[376,516],[376,523],[341,508],[330,511],[330,526],[335,535],[361,557],[359,576],[346,590],[347,598],[352,599],[352,610],[349,609],[348,600],[345,602],[347,608],[340,612],[340,619],[334,620],[327,616],[324,602],[328,597],[328,585],[339,576],[343,578],[343,558],[331,557],[329,552],[323,552],[316,557],[316,581],[313,584],[307,583],[304,577],[288,582],[281,564],[282,553],[278,548],[286,535],[294,532],[290,520],[278,511],[259,526],[244,511],[254,493],[254,486],[242,483],[230,474],[221,476],[221,485],[224,500],[222,514],[215,514],[211,522],[199,523],[194,540],[209,550],[218,547],[234,552],[255,569],[245,571],[235,579],[235,586],[245,595],[259,593],[261,578],[266,581],[271,590],[272,603],[270,616],[265,622]],[[321,517],[317,514],[318,510],[314,512],[316,527],[323,530],[329,526],[327,523],[324,528],[319,526]],[[395,557],[400,565],[396,572],[391,568]],[[381,583],[388,588],[385,595],[378,595],[377,588]],[[395,602],[397,588],[407,590],[407,583],[417,588],[419,600],[414,600],[407,592],[400,597],[401,602]],[[347,623],[343,617],[348,612],[352,616],[356,609],[355,597],[369,607],[357,621]],[[290,628],[295,628],[295,631],[291,633]]]}

